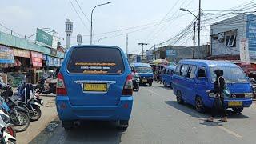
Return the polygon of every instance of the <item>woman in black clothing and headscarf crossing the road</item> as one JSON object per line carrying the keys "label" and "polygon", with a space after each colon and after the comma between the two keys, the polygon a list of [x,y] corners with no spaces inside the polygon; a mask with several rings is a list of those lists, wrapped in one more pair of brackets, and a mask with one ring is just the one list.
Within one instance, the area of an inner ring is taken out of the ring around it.
{"label": "woman in black clothing and headscarf crossing the road", "polygon": [[211,109],[211,117],[207,118],[207,122],[213,122],[214,116],[218,113],[219,110],[222,111],[222,119],[220,121],[227,122],[227,113],[226,113],[226,107],[224,105],[224,95],[223,91],[226,86],[225,79],[223,76],[223,70],[214,70],[214,74],[216,74],[216,80],[214,82],[214,90],[208,90],[207,92],[214,93],[215,99],[214,104]]}

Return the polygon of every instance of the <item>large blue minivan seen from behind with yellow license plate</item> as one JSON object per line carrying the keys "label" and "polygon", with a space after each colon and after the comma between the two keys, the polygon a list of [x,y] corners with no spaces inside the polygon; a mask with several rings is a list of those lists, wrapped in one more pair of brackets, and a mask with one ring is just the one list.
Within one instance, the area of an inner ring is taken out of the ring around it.
{"label": "large blue minivan seen from behind with yellow license plate", "polygon": [[119,122],[126,130],[133,106],[132,74],[116,46],[73,46],[58,73],[56,107],[62,126],[74,121]]}

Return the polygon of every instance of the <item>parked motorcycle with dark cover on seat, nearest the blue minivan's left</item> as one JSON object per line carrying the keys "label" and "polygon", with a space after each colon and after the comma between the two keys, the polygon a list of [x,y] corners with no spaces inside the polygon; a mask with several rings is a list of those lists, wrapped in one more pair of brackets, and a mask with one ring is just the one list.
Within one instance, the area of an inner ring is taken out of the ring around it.
{"label": "parked motorcycle with dark cover on seat, nearest the blue minivan's left", "polygon": [[33,85],[26,84],[22,90],[21,96],[19,96],[20,100],[17,100],[16,102],[18,103],[18,106],[22,106],[30,111],[31,121],[37,121],[42,115],[40,106],[43,106],[43,101],[33,92],[33,89]]}

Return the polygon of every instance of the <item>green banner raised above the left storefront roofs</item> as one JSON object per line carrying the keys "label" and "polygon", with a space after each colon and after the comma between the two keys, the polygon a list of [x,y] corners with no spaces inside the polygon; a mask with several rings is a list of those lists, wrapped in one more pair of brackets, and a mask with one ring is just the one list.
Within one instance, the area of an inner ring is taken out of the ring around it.
{"label": "green banner raised above the left storefront roofs", "polygon": [[37,35],[35,39],[36,41],[42,42],[48,46],[52,46],[53,44],[53,36],[38,28],[37,28]]}

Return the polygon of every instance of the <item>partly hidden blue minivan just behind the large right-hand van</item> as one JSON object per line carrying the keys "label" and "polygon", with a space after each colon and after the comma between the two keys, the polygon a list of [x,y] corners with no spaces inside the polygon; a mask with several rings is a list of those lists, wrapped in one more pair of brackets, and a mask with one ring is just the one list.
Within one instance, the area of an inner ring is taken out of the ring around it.
{"label": "partly hidden blue minivan just behind the large right-hand van", "polygon": [[171,86],[173,82],[173,74],[176,66],[164,66],[162,69],[162,84],[163,86]]}

